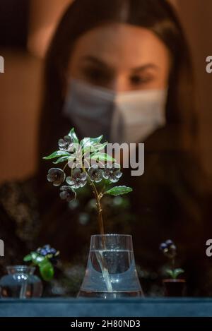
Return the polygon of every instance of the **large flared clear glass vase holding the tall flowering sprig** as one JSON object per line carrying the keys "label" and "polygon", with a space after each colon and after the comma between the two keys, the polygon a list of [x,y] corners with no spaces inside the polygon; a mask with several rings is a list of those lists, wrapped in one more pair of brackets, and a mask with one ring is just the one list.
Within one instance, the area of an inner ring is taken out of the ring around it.
{"label": "large flared clear glass vase holding the tall flowering sprig", "polygon": [[129,296],[143,296],[132,237],[126,234],[91,236],[86,275],[78,297],[117,299]]}

